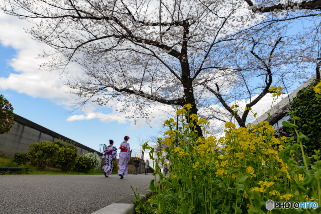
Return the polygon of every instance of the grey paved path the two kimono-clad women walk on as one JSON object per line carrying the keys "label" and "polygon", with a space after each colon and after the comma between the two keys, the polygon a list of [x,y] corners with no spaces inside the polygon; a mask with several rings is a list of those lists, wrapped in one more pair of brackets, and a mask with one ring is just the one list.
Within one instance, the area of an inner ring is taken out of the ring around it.
{"label": "grey paved path the two kimono-clad women walk on", "polygon": [[0,176],[1,214],[90,214],[149,188],[152,174]]}

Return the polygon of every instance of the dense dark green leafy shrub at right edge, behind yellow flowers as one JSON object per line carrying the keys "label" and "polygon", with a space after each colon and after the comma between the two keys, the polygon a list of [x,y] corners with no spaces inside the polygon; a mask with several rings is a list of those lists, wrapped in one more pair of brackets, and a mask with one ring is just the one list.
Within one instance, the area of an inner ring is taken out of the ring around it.
{"label": "dense dark green leafy shrub at right edge, behind yellow flowers", "polygon": [[[314,91],[319,82],[319,79],[315,80],[311,85],[299,90],[290,104],[290,110],[296,111],[295,116],[300,118],[295,124],[298,132],[305,133],[309,138],[309,141],[302,141],[309,156],[314,154],[313,150],[321,148],[321,102]],[[288,121],[293,123],[292,118]],[[290,135],[296,140],[294,129],[290,129]]]}

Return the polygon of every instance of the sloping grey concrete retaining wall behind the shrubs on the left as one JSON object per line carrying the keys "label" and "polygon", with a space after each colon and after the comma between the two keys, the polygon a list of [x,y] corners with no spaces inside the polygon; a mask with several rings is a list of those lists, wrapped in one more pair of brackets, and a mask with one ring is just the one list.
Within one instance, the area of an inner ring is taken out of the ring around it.
{"label": "sloping grey concrete retaining wall behind the shrubs on the left", "polygon": [[[59,138],[64,141],[75,142],[48,128],[42,127],[19,115],[15,115],[14,125],[10,132],[0,135],[0,154],[4,154],[7,157],[13,157],[16,152],[26,153],[30,144],[46,140],[53,142],[55,139]],[[75,142],[75,144],[78,149],[78,155],[81,155],[83,152],[97,152],[98,155],[102,156],[102,153],[85,145],[77,142]]]}

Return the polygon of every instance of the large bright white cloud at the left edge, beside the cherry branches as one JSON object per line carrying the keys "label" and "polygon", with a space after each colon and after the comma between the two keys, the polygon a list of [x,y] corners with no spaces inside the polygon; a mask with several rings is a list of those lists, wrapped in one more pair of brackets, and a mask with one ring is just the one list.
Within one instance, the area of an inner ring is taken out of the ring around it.
{"label": "large bright white cloud at the left edge, beside the cherry branches", "polygon": [[33,24],[4,13],[0,13],[0,43],[17,51],[13,59],[7,62],[18,73],[9,74],[8,78],[0,77],[0,88],[25,93],[31,97],[49,98],[57,104],[72,101],[68,88],[57,73],[39,70],[39,64],[49,59],[36,59],[38,54],[49,49],[48,45],[30,38],[23,28]]}

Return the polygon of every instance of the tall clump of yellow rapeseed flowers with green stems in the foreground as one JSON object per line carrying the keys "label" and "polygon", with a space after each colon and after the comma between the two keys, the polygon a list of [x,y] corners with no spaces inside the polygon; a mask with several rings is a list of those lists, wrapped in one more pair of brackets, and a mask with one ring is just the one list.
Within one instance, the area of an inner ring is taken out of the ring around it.
{"label": "tall clump of yellow rapeseed flowers with green stems in the foreground", "polygon": [[[275,92],[274,96],[282,88],[271,90]],[[311,159],[305,158],[302,139],[307,139],[306,136],[297,134],[299,144],[292,145],[293,137],[275,138],[275,131],[266,121],[254,126],[247,124],[247,128],[236,128],[235,124],[227,122],[225,136],[216,141],[206,131],[209,122],[198,119],[195,114],[189,115],[189,109],[190,104],[187,104],[177,111],[182,119],[189,118],[188,124],[183,123],[176,130],[174,119],[166,120],[164,126],[168,130],[165,137],[158,138],[159,148],[162,144],[169,146],[164,148],[170,163],[171,174],[168,178],[159,171],[159,166],[164,165],[163,151],[156,151],[158,159],[155,159],[154,148],[148,146],[148,142],[143,145],[143,150],[151,150],[150,158],[155,166],[155,179],[150,184],[150,190],[155,193],[149,200],[152,212],[267,213],[265,203],[268,200],[317,202],[321,198],[321,152],[315,151],[316,155]],[[233,105],[232,109],[237,112],[238,106]],[[298,120],[295,116],[293,119]],[[194,130],[196,123],[203,128],[204,137],[197,137]],[[297,128],[285,121],[283,126]],[[176,146],[178,137],[181,140]],[[293,160],[298,149],[302,152],[304,167]],[[310,162],[312,169],[309,170]],[[159,187],[154,185],[156,174]],[[273,213],[320,211],[321,207],[315,210],[275,209]]]}

